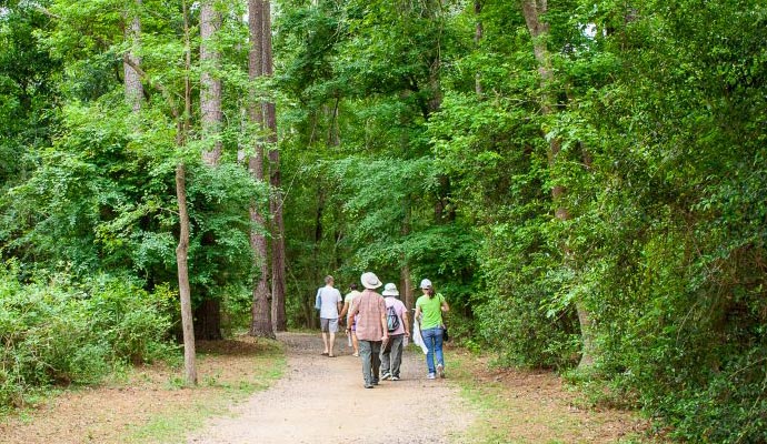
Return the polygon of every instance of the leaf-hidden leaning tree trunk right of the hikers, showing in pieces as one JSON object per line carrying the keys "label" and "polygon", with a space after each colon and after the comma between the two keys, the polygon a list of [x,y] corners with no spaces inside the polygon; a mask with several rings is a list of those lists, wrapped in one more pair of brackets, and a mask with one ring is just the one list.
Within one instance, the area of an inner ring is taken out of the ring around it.
{"label": "leaf-hidden leaning tree trunk right of the hikers, showing in pieces", "polygon": [[[536,62],[538,63],[538,73],[540,75],[541,83],[541,98],[540,98],[540,109],[545,117],[552,115],[555,111],[555,103],[551,99],[549,89],[554,84],[554,69],[551,67],[551,59],[546,47],[546,38],[549,33],[549,24],[542,22],[540,17],[546,13],[547,0],[522,0],[522,14],[525,16],[525,22],[527,29],[532,38],[532,50],[535,52]],[[559,138],[552,138],[549,141],[548,150],[548,164],[549,169],[555,170],[559,152],[561,151],[561,140]],[[567,208],[562,203],[566,190],[560,184],[555,184],[551,189],[551,198],[555,205],[557,205],[555,211],[555,216],[560,221],[567,221],[570,219],[570,214]],[[571,256],[567,245],[562,245],[562,256],[566,261]],[[578,364],[579,370],[587,370],[594,364],[594,334],[591,330],[592,316],[588,309],[585,306],[582,301],[576,301],[576,311],[578,312],[578,321],[580,324],[580,334],[582,342],[582,354],[580,357],[580,363]]]}

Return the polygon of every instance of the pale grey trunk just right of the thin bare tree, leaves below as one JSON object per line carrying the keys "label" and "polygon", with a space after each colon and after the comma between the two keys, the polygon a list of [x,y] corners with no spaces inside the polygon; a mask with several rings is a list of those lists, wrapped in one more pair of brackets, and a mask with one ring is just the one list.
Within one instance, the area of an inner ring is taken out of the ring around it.
{"label": "pale grey trunk just right of the thin bare tree, leaves below", "polygon": [[221,17],[213,8],[213,0],[205,0],[200,6],[200,111],[202,114],[202,138],[207,148],[202,161],[218,165],[221,158],[221,79],[218,79],[220,54],[212,41],[221,27]]}

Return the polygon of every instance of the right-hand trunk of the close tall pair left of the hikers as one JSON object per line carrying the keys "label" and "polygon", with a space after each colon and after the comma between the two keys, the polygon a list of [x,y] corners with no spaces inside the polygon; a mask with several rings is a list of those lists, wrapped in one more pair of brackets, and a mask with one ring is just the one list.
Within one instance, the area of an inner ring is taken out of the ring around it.
{"label": "right-hand trunk of the close tall pair left of the hikers", "polygon": [[[271,56],[271,3],[263,0],[263,75],[272,77]],[[285,313],[285,222],[282,220],[282,180],[280,176],[280,151],[277,148],[277,110],[273,101],[265,103],[266,123],[269,133],[269,182],[271,183],[271,319],[275,330],[288,330]]]}

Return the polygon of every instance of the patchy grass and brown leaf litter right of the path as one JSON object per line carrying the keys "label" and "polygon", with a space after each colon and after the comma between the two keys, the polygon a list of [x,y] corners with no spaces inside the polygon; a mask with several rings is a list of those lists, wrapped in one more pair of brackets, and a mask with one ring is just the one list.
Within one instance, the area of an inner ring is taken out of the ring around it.
{"label": "patchy grass and brown leaf litter right of the path", "polygon": [[586,410],[551,373],[494,371],[465,350],[447,351],[449,381],[479,412],[457,442],[650,443],[647,422],[635,412]]}

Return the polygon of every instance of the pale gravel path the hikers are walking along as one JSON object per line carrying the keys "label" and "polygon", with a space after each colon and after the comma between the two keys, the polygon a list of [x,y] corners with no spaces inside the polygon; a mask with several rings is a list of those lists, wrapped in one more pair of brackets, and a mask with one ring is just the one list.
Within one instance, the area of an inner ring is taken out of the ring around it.
{"label": "pale gravel path the hikers are walking along", "polygon": [[232,417],[212,420],[188,443],[462,442],[460,433],[475,413],[449,380],[426,379],[420,351],[405,353],[401,381],[366,390],[362,365],[341,337],[339,356],[327,357],[320,355],[319,333],[279,335],[287,344],[285,376],[235,407]]}

